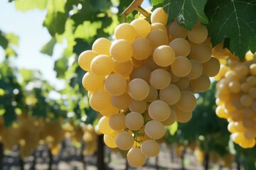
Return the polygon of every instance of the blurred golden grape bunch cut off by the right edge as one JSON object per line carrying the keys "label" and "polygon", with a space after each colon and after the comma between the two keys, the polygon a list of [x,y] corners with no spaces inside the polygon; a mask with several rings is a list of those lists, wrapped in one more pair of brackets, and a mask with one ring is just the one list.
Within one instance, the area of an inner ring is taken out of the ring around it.
{"label": "blurred golden grape bunch cut off by the right edge", "polygon": [[[256,137],[256,55],[247,52],[245,62],[230,57],[225,49],[213,49],[223,60],[215,77],[216,114],[228,120],[233,142],[243,148],[255,146]],[[218,55],[216,55],[217,57]],[[229,58],[229,60],[227,60]]]}

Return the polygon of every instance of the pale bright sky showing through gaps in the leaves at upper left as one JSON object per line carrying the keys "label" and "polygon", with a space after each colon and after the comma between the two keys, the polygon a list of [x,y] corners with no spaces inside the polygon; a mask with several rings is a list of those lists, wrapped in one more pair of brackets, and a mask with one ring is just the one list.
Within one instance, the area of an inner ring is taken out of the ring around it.
{"label": "pale bright sky showing through gaps in the leaves at upper left", "polygon": [[[144,1],[143,8],[150,6],[149,1]],[[14,2],[0,1],[0,30],[4,33],[14,33],[19,37],[17,48],[18,57],[13,58],[11,63],[18,68],[38,69],[44,79],[56,89],[63,89],[64,83],[56,79],[53,70],[54,61],[57,60],[65,45],[55,45],[53,56],[43,55],[40,51],[43,45],[50,40],[50,34],[43,28],[43,19],[46,11],[35,9],[33,11],[17,11]],[[4,60],[4,52],[0,47],[0,62]]]}

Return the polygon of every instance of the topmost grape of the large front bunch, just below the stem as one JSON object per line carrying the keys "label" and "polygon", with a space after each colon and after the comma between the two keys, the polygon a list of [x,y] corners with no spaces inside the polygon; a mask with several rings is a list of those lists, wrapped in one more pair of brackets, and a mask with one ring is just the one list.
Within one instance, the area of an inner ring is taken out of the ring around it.
{"label": "topmost grape of the large front bunch, just below the stem", "polygon": [[150,16],[151,23],[161,23],[166,25],[168,19],[167,13],[164,11],[164,8],[156,8]]}

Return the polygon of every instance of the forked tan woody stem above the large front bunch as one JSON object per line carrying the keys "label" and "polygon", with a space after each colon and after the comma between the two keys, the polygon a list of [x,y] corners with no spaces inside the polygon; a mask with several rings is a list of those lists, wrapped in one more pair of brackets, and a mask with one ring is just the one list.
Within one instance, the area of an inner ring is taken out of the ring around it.
{"label": "forked tan woody stem above the large front bunch", "polygon": [[129,13],[132,13],[132,11],[136,10],[139,13],[142,13],[143,16],[148,17],[149,12],[144,10],[144,8],[141,6],[143,1],[144,0],[132,1],[132,3],[121,13],[121,16],[127,16]]}

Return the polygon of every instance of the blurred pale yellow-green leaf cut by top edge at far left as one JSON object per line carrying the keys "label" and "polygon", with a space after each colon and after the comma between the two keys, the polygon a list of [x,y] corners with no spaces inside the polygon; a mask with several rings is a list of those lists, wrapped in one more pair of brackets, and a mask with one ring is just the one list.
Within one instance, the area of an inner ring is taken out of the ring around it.
{"label": "blurred pale yellow-green leaf cut by top edge at far left", "polygon": [[16,0],[15,8],[20,11],[28,11],[34,8],[45,9],[47,0]]}

